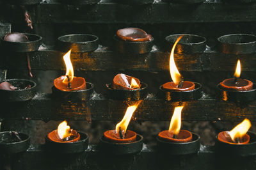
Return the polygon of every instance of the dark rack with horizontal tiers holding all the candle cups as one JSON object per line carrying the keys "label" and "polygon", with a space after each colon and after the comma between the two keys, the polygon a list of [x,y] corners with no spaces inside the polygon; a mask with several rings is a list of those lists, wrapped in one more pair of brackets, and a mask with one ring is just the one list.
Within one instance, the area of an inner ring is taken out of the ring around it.
{"label": "dark rack with horizontal tiers holding all the candle cups", "polygon": [[[214,22],[218,22],[220,25],[233,24],[234,22],[252,24],[256,21],[255,8],[256,3],[242,5],[205,1],[202,4],[186,6],[157,1],[154,4],[143,6],[129,6],[111,0],[102,0],[95,5],[83,6],[61,4],[52,0],[47,1],[47,3],[28,6],[38,34],[45,31],[49,33],[47,37],[52,35],[50,32],[56,25],[92,24],[92,27],[97,27],[97,24],[104,24],[104,26],[109,24],[112,29],[112,26],[115,28],[122,26],[122,24],[125,26],[141,24],[145,27],[149,27],[148,24],[157,27],[161,24],[197,24],[198,26],[198,24],[214,24]],[[0,20],[7,23],[0,24],[1,36],[10,32],[8,22],[13,24],[14,29],[18,29],[23,24],[23,15],[20,13],[22,13],[20,6],[1,4]],[[255,31],[252,33],[255,34]],[[104,33],[99,32],[99,34]],[[211,33],[208,32],[204,34],[211,36]],[[109,36],[112,37],[113,35]],[[164,37],[161,38],[164,39]],[[48,39],[51,40],[51,38]],[[52,45],[52,43],[50,44]],[[109,45],[109,43],[107,44]],[[47,45],[43,45],[40,50],[31,53],[32,70],[35,72],[63,71],[65,69],[62,62],[63,53]],[[19,75],[15,72],[26,72],[27,61],[23,55],[8,53],[1,55],[0,66],[3,70],[0,70],[0,80],[5,78],[5,69],[12,76]],[[168,74],[169,55],[170,53],[164,52],[158,44],[154,45],[150,53],[140,55],[116,54],[110,48],[100,46],[95,52],[72,54],[72,62],[76,70],[83,72],[112,72],[113,70],[121,72],[125,70],[165,72]],[[175,60],[179,61],[177,66],[182,72],[233,72],[237,58],[241,59],[243,63],[243,72],[252,72],[255,75],[255,54],[239,56],[221,54],[216,52],[213,47],[207,47],[207,50],[202,54],[175,54]],[[156,73],[156,77],[157,75],[158,73]],[[255,77],[252,77],[252,81],[256,81]],[[47,93],[37,93],[33,100],[15,103],[15,107],[12,107],[13,104],[1,102],[0,120],[3,120],[3,123],[12,120],[120,120],[127,102],[108,100],[101,92],[94,93],[93,98],[88,102],[55,100]],[[180,102],[165,102],[157,98],[156,93],[150,93],[136,111],[134,120],[170,120],[169,113],[178,104]],[[182,104],[186,105],[182,114],[182,119],[186,121],[241,121],[243,118],[256,121],[255,101],[249,104],[223,102],[205,93],[200,100],[182,102]],[[201,146],[199,153],[194,155],[162,156],[157,153],[155,146],[146,144],[144,144],[141,153],[125,157],[109,157],[100,153],[97,146],[90,145],[83,153],[68,155],[67,158],[62,155],[60,158],[54,159],[57,155],[49,156],[44,146],[31,145],[25,153],[12,155],[12,162],[7,163],[10,163],[13,169],[20,169],[20,167],[24,167],[24,169],[255,169],[256,167],[255,157],[227,158],[216,155],[214,148],[209,146]],[[61,160],[61,158],[63,159]],[[6,164],[4,160],[5,158],[2,157],[0,162]],[[55,165],[52,166],[52,164]]]}

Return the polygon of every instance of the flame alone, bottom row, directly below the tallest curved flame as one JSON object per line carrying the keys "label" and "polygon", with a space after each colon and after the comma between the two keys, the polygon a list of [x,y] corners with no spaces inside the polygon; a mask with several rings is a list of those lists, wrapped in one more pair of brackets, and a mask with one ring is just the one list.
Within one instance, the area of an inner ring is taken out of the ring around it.
{"label": "flame alone, bottom row, directly below the tallest curved flame", "polygon": [[175,107],[172,120],[169,127],[169,132],[173,132],[175,135],[179,135],[181,127],[181,111],[184,106]]}

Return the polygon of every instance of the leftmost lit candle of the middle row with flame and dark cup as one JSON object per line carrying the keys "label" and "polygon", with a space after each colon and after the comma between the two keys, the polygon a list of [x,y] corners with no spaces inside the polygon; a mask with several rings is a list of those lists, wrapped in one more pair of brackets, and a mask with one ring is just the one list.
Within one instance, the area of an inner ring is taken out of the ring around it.
{"label": "leftmost lit candle of the middle row with flame and dark cup", "polygon": [[89,100],[93,93],[93,84],[85,82],[83,77],[75,77],[74,69],[70,60],[69,50],[63,60],[66,65],[66,75],[54,79],[52,94],[55,97],[68,98],[70,100]]}

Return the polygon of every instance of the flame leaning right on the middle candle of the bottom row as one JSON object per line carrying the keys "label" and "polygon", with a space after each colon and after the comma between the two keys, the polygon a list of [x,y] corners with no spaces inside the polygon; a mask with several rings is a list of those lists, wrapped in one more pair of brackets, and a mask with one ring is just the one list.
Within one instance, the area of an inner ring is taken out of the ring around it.
{"label": "flame leaning right on the middle candle of the bottom row", "polygon": [[134,105],[131,105],[127,108],[124,118],[122,119],[122,121],[120,121],[119,123],[116,124],[116,133],[119,133],[119,129],[121,128],[123,133],[125,134],[126,129],[129,125],[129,122],[132,118],[132,114],[133,112],[137,109],[138,105],[140,104],[140,102],[137,102]]}

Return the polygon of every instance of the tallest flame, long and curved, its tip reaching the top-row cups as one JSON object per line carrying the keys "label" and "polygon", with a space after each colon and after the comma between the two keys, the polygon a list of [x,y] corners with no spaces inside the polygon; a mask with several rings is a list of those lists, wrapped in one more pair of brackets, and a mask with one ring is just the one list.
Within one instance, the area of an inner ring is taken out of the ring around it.
{"label": "tallest flame, long and curved, its tip reaching the top-row cups", "polygon": [[172,52],[170,54],[170,64],[169,64],[169,66],[170,66],[170,73],[171,73],[172,81],[177,86],[179,85],[179,82],[181,81],[182,76],[180,75],[180,72],[179,72],[179,70],[178,70],[178,68],[177,68],[177,66],[175,65],[175,62],[174,62],[174,50],[175,50],[175,47],[176,47],[177,43],[182,38],[182,36],[177,38],[176,42],[174,43],[174,45],[172,47]]}

